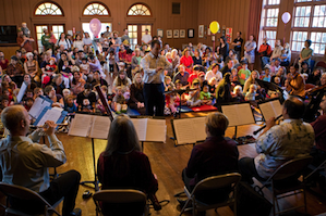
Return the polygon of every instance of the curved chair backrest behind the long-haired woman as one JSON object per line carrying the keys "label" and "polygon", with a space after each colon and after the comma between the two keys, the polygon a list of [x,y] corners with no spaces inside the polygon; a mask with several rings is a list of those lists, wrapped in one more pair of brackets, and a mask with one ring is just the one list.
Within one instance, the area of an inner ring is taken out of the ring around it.
{"label": "curved chair backrest behind the long-haired woman", "polygon": [[147,201],[147,196],[142,191],[130,189],[114,189],[114,190],[101,190],[93,195],[95,201],[101,201],[105,203],[137,203]]}

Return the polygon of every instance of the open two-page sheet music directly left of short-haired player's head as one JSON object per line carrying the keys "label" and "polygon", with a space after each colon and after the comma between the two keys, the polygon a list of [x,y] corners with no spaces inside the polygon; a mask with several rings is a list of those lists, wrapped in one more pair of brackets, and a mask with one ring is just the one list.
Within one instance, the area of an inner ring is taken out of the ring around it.
{"label": "open two-page sheet music directly left of short-haired player's head", "polygon": [[188,144],[205,141],[205,119],[206,117],[171,119],[172,130],[177,144]]}

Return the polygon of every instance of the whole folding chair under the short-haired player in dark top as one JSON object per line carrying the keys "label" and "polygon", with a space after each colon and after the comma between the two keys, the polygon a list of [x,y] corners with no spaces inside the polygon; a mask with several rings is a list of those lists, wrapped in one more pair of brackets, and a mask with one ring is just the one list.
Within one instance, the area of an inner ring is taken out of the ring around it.
{"label": "whole folding chair under the short-haired player in dark top", "polygon": [[[203,179],[197,182],[193,191],[190,193],[186,187],[184,187],[184,192],[188,196],[185,205],[182,207],[180,212],[180,216],[185,212],[185,208],[189,203],[192,203],[193,215],[196,214],[196,211],[206,211],[210,208],[218,208],[222,206],[233,205],[234,215],[237,215],[237,187],[240,182],[241,175],[238,173],[225,174],[219,176],[213,176]],[[216,202],[216,203],[207,203],[198,200],[196,198],[200,193],[205,193],[207,196],[218,196],[220,194],[216,193],[218,189],[228,188],[228,198],[226,200]]]}

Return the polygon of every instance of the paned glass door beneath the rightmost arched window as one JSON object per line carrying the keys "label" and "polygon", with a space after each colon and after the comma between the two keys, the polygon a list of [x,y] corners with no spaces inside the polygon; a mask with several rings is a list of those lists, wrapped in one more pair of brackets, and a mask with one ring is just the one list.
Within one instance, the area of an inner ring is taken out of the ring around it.
{"label": "paned glass door beneath the rightmost arched window", "polygon": [[145,35],[145,29],[148,29],[148,34],[152,35],[152,24],[128,25],[128,35],[130,38],[131,49],[134,50],[136,45],[142,45],[142,36]]}

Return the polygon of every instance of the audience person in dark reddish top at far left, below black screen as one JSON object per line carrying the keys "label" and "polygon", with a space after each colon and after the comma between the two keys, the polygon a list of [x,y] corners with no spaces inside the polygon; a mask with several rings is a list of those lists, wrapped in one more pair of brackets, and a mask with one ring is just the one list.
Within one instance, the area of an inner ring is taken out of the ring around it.
{"label": "audience person in dark reddish top at far left, below black screen", "polygon": [[10,59],[10,64],[7,67],[7,74],[11,77],[11,79],[21,88],[21,85],[24,79],[25,71],[22,65],[19,64],[19,59],[13,55]]}

